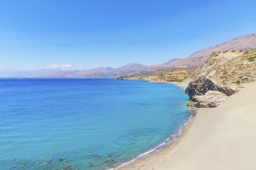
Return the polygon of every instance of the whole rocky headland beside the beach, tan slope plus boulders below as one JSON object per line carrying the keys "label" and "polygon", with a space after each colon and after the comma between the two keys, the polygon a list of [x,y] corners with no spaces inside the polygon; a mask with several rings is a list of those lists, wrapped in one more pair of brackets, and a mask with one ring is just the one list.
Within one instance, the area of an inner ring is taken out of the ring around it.
{"label": "whole rocky headland beside the beach, tan slope plus boulders below", "polygon": [[185,92],[196,107],[216,107],[245,83],[255,80],[256,49],[226,50],[212,53],[206,63],[195,70]]}

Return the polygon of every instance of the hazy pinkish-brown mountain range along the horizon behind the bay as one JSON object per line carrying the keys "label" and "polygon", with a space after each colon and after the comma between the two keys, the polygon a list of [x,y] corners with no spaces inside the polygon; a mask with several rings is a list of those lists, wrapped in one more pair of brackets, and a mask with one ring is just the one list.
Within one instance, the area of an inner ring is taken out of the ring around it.
{"label": "hazy pinkish-brown mountain range along the horizon behind the bay", "polygon": [[[149,74],[156,72],[170,72],[175,69],[195,69],[206,62],[213,52],[225,50],[240,50],[256,48],[256,33],[237,36],[226,42],[206,49],[199,50],[185,59],[171,59],[170,61],[154,66],[144,66],[139,63],[130,63],[119,68],[99,67],[91,70],[61,70],[42,69],[20,72],[2,72],[1,77],[113,77],[133,74]],[[186,74],[188,75],[188,74]]]}

